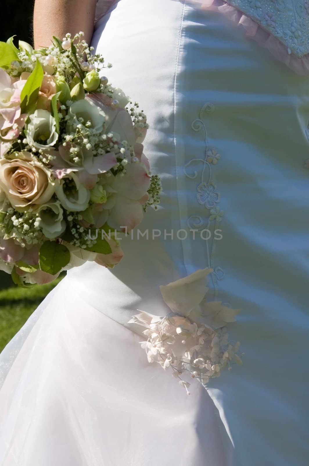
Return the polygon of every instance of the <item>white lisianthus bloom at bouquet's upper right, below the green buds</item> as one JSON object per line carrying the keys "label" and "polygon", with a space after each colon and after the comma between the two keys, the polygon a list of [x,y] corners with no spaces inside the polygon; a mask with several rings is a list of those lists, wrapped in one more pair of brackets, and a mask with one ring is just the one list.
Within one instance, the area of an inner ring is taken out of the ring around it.
{"label": "white lisianthus bloom at bouquet's upper right, below the green buds", "polygon": [[[96,132],[100,133],[103,131],[103,125],[105,123],[105,113],[100,110],[96,105],[93,105],[85,99],[73,102],[69,107],[68,116],[71,117],[74,123],[79,124],[79,119],[82,118],[82,124],[85,125],[87,121],[90,121],[91,127]],[[69,129],[71,124],[68,124]]]}

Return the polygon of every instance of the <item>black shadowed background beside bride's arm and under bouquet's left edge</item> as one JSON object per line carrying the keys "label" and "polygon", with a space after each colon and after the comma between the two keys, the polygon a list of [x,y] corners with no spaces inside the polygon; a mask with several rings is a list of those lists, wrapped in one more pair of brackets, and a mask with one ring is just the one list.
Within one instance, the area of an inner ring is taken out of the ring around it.
{"label": "black shadowed background beside bride's arm and under bouquet's left edge", "polygon": [[[0,27],[0,41],[6,42],[9,37],[14,38],[15,45],[18,41],[26,41],[33,45],[32,16],[34,0],[10,0],[7,1],[8,14],[4,11]],[[2,10],[2,5],[1,5]],[[5,8],[4,8],[5,10]],[[13,21],[11,18],[13,17]],[[0,271],[0,289],[7,288],[12,284],[9,274]]]}

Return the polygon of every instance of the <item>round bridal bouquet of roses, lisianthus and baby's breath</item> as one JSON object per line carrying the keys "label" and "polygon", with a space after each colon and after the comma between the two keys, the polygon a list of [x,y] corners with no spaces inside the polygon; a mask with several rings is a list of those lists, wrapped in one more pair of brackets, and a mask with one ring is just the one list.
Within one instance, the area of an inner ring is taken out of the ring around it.
{"label": "round bridal bouquet of roses, lisianthus and baby's breath", "polygon": [[104,58],[82,36],[0,42],[0,269],[21,286],[87,260],[113,267],[117,232],[159,202],[146,116],[100,77]]}

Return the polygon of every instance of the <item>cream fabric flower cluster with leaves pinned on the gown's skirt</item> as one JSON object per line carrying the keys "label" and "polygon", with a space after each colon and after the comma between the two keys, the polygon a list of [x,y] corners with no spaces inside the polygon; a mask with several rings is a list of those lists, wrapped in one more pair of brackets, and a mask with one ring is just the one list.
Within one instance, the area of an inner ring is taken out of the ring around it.
{"label": "cream fabric flower cluster with leaves pinned on the gown's skirt", "polygon": [[190,373],[203,385],[219,377],[232,363],[242,364],[237,354],[240,343],[230,343],[226,324],[235,321],[238,309],[221,302],[207,302],[207,275],[211,269],[197,270],[188,277],[161,286],[164,301],[171,309],[165,317],[141,311],[128,323],[145,327],[147,340],[141,343],[149,363],[171,368],[180,386],[190,395],[190,383],[180,376]]}

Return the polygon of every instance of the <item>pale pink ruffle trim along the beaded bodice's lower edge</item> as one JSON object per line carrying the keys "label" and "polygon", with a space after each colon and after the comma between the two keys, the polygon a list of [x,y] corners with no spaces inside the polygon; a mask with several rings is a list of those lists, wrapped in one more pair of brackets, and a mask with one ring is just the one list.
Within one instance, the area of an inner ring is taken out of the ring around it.
{"label": "pale pink ruffle trim along the beaded bodice's lower edge", "polygon": [[[177,0],[176,0],[177,1]],[[184,0],[178,0],[184,3]],[[309,54],[299,58],[289,54],[288,48],[270,32],[266,31],[256,21],[251,20],[246,14],[235,7],[231,7],[223,0],[187,0],[186,4],[200,7],[202,10],[218,11],[225,14],[238,26],[245,28],[246,36],[267,48],[270,53],[280,62],[285,63],[290,69],[300,75],[309,75]]]}

